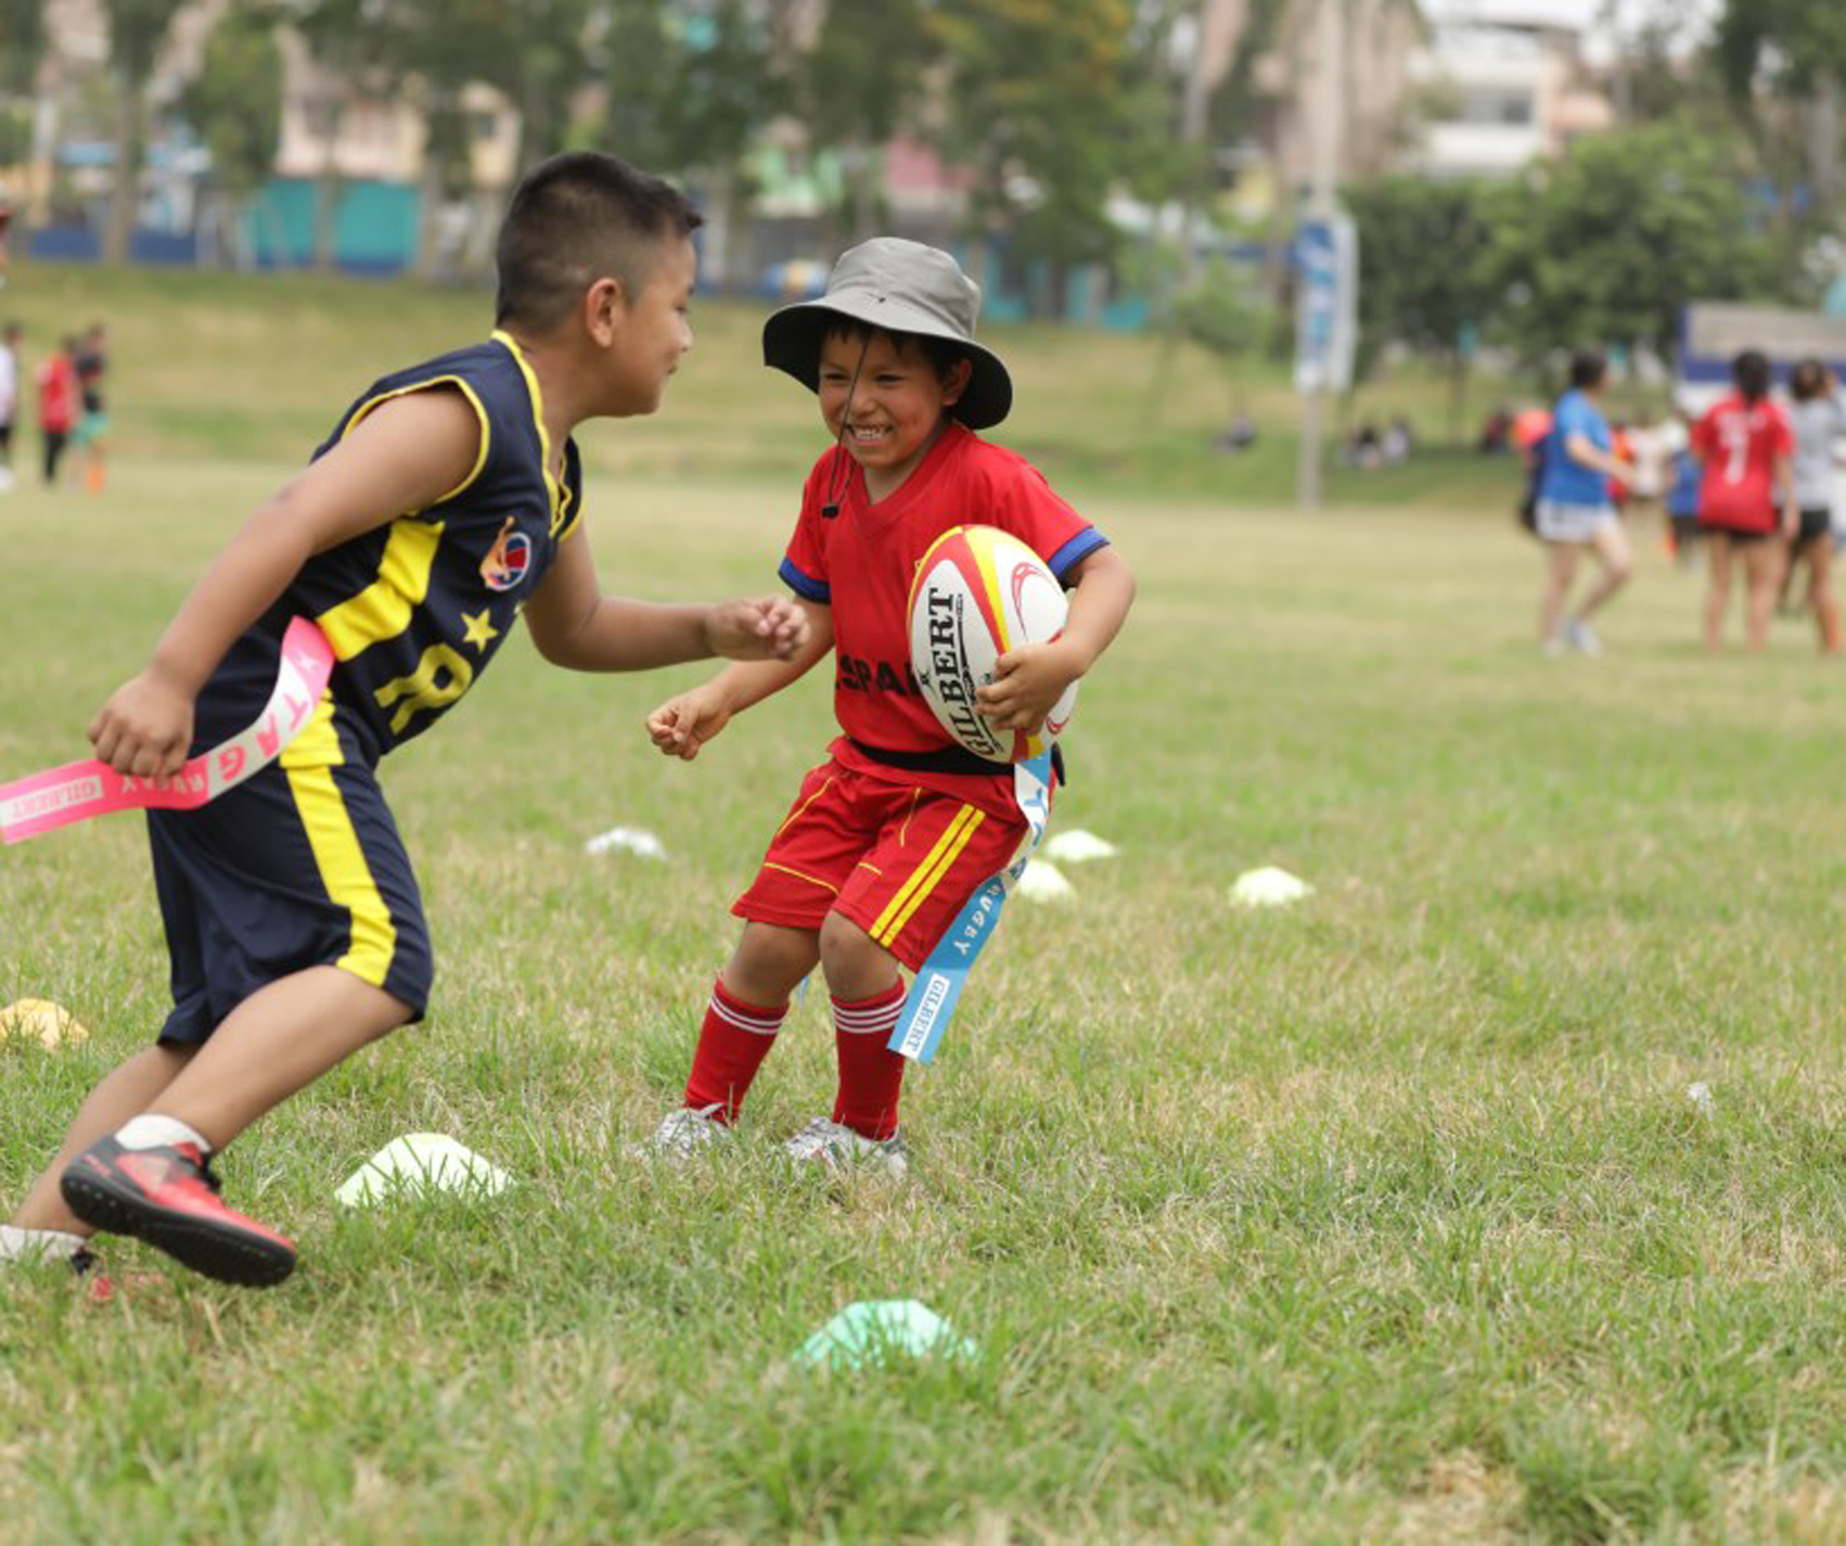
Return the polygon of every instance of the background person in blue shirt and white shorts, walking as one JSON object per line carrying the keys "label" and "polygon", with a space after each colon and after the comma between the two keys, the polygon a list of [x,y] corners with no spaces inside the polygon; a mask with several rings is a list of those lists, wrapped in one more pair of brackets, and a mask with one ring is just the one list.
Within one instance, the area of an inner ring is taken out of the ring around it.
{"label": "background person in blue shirt and white shorts, walking", "polygon": [[[1599,349],[1571,358],[1571,386],[1551,412],[1551,434],[1540,447],[1534,530],[1545,543],[1545,589],[1538,608],[1538,637],[1545,654],[1565,648],[1602,654],[1589,619],[1634,573],[1628,534],[1610,501],[1610,478],[1634,482],[1634,469],[1612,449],[1610,425],[1597,406],[1608,384],[1608,360]],[[1600,578],[1565,610],[1584,550],[1595,554]]]}

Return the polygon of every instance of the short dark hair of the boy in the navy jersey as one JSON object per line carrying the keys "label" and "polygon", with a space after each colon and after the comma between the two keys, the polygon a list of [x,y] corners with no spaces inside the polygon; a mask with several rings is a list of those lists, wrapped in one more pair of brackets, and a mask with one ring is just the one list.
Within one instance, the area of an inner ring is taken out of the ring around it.
{"label": "short dark hair of the boy in the navy jersey", "polygon": [[519,181],[500,223],[495,321],[548,331],[605,275],[633,301],[661,240],[701,223],[679,188],[613,155],[572,150],[541,161]]}

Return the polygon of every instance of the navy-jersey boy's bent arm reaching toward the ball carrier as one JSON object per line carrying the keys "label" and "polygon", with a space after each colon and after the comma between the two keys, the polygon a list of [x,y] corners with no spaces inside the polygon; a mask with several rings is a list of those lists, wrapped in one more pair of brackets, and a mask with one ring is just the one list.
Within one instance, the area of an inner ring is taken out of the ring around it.
{"label": "navy-jersey boy's bent arm reaching toward the ball carrier", "polygon": [[807,619],[786,597],[661,606],[605,597],[589,539],[578,528],[526,602],[539,654],[572,670],[648,670],[687,659],[785,661],[807,641]]}

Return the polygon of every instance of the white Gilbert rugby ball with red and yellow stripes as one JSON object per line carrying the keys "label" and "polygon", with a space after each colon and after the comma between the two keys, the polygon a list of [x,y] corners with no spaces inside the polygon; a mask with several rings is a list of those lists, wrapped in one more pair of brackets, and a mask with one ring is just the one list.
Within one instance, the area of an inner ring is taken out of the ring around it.
{"label": "white Gilbert rugby ball with red and yellow stripes", "polygon": [[930,543],[910,582],[910,669],[930,713],[958,746],[991,763],[1036,757],[1071,722],[1076,683],[1037,735],[997,730],[975,707],[993,663],[1063,632],[1063,586],[1032,549],[999,526],[953,526]]}

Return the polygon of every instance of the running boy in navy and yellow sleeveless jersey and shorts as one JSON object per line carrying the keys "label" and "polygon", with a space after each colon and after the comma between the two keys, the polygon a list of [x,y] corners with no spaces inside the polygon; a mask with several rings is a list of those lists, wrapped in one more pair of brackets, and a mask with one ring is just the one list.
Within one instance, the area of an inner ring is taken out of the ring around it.
{"label": "running boy in navy and yellow sleeveless jersey and shorts", "polygon": [[805,646],[786,598],[604,597],[581,530],[570,432],[659,406],[692,344],[696,225],[677,190],[613,157],[535,168],[500,229],[493,336],[367,390],[96,715],[100,759],[170,776],[260,713],[290,617],[332,646],[332,682],[277,763],[150,815],[174,1010],[90,1093],[0,1258],[81,1260],[103,1228],[225,1282],[288,1276],[294,1245],[220,1201],[209,1156],[423,1016],[428,935],[373,767],[469,689],[521,613],[578,670]]}

